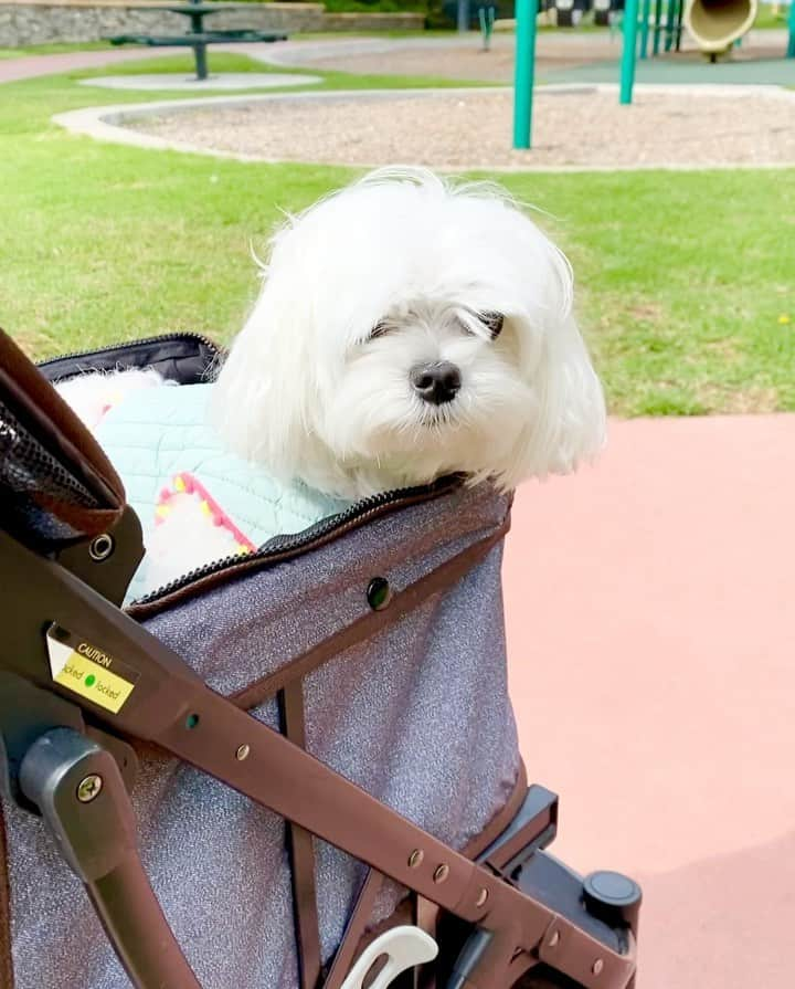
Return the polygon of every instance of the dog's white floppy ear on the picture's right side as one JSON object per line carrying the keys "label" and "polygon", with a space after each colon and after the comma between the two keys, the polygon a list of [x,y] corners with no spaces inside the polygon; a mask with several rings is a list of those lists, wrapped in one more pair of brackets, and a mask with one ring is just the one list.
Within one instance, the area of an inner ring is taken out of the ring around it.
{"label": "dog's white floppy ear on the picture's right side", "polygon": [[605,443],[606,412],[602,385],[572,314],[572,274],[551,244],[550,285],[543,311],[528,314],[522,371],[536,408],[498,482],[513,487],[524,477],[566,474],[597,454]]}

